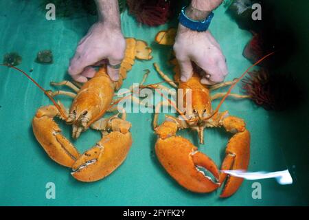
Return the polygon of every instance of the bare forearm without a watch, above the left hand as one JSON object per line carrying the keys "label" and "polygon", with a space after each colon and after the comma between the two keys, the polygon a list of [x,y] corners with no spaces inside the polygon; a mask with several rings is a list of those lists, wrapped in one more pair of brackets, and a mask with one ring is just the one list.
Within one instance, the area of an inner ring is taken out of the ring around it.
{"label": "bare forearm without a watch, above the left hand", "polygon": [[113,28],[120,28],[120,15],[117,0],[95,0],[99,21]]}

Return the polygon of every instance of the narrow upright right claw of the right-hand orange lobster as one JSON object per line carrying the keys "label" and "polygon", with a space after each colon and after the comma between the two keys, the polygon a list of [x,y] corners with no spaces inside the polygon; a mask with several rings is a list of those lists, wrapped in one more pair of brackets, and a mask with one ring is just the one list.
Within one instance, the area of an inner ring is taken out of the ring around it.
{"label": "narrow upright right claw of the right-hand orange lobster", "polygon": [[[247,170],[250,159],[250,133],[245,129],[243,120],[229,116],[223,121],[227,131],[237,132],[227,144],[225,150],[226,156],[222,162],[221,170]],[[226,181],[225,181],[226,180]],[[230,197],[233,195],[244,179],[240,177],[231,177],[226,173],[220,173],[219,182],[225,186],[220,197]]]}

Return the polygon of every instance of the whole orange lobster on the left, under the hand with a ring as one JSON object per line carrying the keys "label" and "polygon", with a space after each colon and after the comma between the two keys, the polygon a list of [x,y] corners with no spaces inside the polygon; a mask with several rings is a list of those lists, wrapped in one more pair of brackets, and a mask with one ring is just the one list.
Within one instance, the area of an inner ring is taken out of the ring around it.
{"label": "whole orange lobster on the left, under the hand with a ring", "polygon": [[[126,121],[126,112],[122,111],[122,117],[118,114],[104,119],[102,116],[106,111],[115,111],[113,96],[115,90],[122,85],[135,58],[149,60],[152,58],[152,50],[144,41],[133,38],[126,39],[126,53],[124,61],[119,69],[119,80],[114,82],[106,72],[106,65],[99,69],[91,80],[82,86],[76,86],[69,81],[52,83],[54,86],[67,86],[75,92],[70,91],[45,91],[29,75],[16,67],[14,69],[23,72],[49,97],[54,105],[41,107],[36,111],[32,120],[32,128],[36,140],[44,148],[45,152],[55,162],[73,169],[73,177],[80,181],[96,181],[113,172],[124,162],[126,155],[132,145],[130,133],[130,122]],[[73,98],[69,111],[53,97],[58,95]],[[82,155],[65,136],[54,121],[54,118],[65,120],[72,124],[72,136],[78,138],[83,131],[97,129],[102,131],[102,139]],[[102,119],[100,119],[102,118]]]}

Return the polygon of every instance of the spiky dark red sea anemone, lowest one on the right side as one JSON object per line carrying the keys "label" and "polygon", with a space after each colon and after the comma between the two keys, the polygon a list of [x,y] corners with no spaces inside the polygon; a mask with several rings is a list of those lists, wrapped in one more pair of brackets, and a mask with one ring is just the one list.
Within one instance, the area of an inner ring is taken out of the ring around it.
{"label": "spiky dark red sea anemone, lowest one on the right side", "polygon": [[266,69],[249,72],[249,76],[242,80],[242,89],[266,110],[282,111],[294,107],[302,97],[290,74],[270,74]]}

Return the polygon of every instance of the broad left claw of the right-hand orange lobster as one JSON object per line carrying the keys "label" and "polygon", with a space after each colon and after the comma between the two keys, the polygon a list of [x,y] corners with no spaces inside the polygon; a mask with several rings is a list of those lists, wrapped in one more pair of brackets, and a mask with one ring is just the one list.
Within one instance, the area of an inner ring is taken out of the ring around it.
{"label": "broad left claw of the right-hand orange lobster", "polygon": [[211,192],[220,186],[203,171],[198,170],[198,166],[201,166],[219,179],[216,164],[207,155],[198,151],[189,140],[180,136],[159,138],[155,151],[165,170],[187,190]]}

